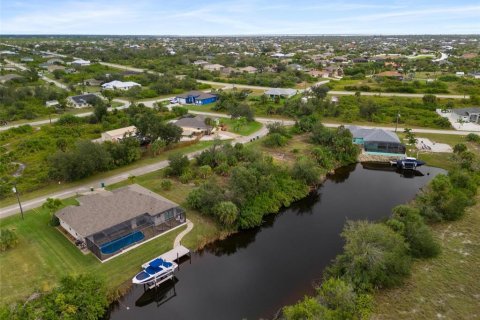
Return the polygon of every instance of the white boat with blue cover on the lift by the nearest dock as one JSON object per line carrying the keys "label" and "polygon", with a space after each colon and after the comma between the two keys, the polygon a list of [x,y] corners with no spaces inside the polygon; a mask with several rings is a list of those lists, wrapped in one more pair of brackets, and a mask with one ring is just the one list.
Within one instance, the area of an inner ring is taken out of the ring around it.
{"label": "white boat with blue cover on the lift by the nearest dock", "polygon": [[165,261],[158,257],[142,265],[142,271],[132,279],[133,284],[157,285],[173,277],[178,268],[175,262]]}

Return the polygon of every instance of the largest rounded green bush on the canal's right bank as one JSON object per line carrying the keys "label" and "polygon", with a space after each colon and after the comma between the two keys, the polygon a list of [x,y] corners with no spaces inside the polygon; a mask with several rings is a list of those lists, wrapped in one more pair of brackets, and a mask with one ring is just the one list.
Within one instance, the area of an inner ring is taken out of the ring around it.
{"label": "largest rounded green bush on the canal's right bank", "polygon": [[386,225],[347,222],[344,253],[327,273],[350,281],[357,290],[392,287],[410,273],[411,259],[403,237]]}

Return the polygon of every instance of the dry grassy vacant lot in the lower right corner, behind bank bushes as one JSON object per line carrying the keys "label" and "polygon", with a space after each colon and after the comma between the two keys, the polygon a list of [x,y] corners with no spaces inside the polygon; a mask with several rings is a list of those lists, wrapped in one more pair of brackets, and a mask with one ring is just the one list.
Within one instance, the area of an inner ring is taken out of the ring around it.
{"label": "dry grassy vacant lot in the lower right corner, behind bank bushes", "polygon": [[480,318],[480,196],[463,219],[433,230],[442,253],[416,262],[404,286],[381,291],[374,319]]}

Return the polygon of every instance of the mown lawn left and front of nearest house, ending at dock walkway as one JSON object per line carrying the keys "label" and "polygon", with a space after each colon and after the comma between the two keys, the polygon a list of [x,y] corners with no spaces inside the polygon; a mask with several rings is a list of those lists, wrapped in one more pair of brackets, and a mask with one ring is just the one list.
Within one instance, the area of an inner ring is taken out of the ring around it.
{"label": "mown lawn left and front of nearest house, ending at dock walkway", "polygon": [[[65,203],[73,204],[75,200]],[[92,254],[81,253],[60,231],[49,226],[48,211],[31,211],[25,214],[25,220],[18,215],[0,220],[1,228],[15,229],[20,239],[16,248],[0,254],[0,304],[25,299],[37,290],[49,290],[67,274],[95,274],[115,290],[128,283],[142,263],[171,249],[175,236],[185,228],[101,263]]]}

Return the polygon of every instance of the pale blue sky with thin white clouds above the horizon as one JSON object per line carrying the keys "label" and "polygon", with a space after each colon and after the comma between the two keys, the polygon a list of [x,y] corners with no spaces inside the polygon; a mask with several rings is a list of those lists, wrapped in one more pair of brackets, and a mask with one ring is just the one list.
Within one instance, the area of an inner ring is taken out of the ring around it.
{"label": "pale blue sky with thin white clouds above the horizon", "polygon": [[0,0],[0,34],[480,34],[480,0]]}

